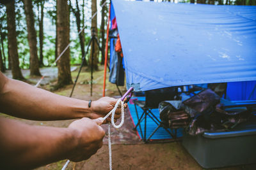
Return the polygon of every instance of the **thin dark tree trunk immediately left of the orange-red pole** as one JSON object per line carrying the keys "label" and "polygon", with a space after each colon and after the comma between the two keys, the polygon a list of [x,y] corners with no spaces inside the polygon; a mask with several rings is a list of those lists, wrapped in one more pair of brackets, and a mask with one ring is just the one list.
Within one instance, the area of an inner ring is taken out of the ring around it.
{"label": "thin dark tree trunk immediately left of the orange-red pole", "polygon": [[[106,0],[102,0],[101,1],[101,4],[104,4]],[[106,10],[107,10],[107,7],[106,5],[104,5],[102,7],[102,10],[101,10],[101,23],[100,23],[100,34],[101,34],[101,49],[102,50],[105,50],[105,43],[106,43],[106,40],[105,40],[105,16],[106,16]],[[104,57],[105,53],[101,53],[101,62],[100,64],[104,64],[104,60],[105,60],[105,57]]]}

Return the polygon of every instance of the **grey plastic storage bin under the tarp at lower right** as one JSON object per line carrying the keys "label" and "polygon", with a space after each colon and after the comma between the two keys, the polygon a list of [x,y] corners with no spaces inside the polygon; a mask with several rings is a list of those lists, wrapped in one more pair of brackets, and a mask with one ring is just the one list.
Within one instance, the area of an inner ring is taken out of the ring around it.
{"label": "grey plastic storage bin under the tarp at lower right", "polygon": [[204,168],[256,163],[256,124],[250,125],[250,129],[198,136],[184,132],[182,145]]}

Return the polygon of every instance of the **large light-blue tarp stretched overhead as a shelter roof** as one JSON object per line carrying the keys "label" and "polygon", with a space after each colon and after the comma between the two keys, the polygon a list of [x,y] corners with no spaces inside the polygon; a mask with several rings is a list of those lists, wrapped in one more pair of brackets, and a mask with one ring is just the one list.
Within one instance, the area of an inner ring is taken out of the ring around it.
{"label": "large light-blue tarp stretched overhead as a shelter roof", "polygon": [[127,88],[256,80],[256,6],[112,3]]}

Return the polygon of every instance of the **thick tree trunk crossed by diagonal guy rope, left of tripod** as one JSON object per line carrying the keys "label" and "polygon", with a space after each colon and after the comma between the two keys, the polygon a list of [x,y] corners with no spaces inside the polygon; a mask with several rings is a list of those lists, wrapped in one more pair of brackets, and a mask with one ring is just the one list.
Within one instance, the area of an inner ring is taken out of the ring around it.
{"label": "thick tree trunk crossed by diagonal guy rope, left of tripod", "polygon": [[[69,44],[69,9],[67,0],[57,0],[57,54]],[[58,60],[58,87],[72,84],[70,73],[70,48]]]}

